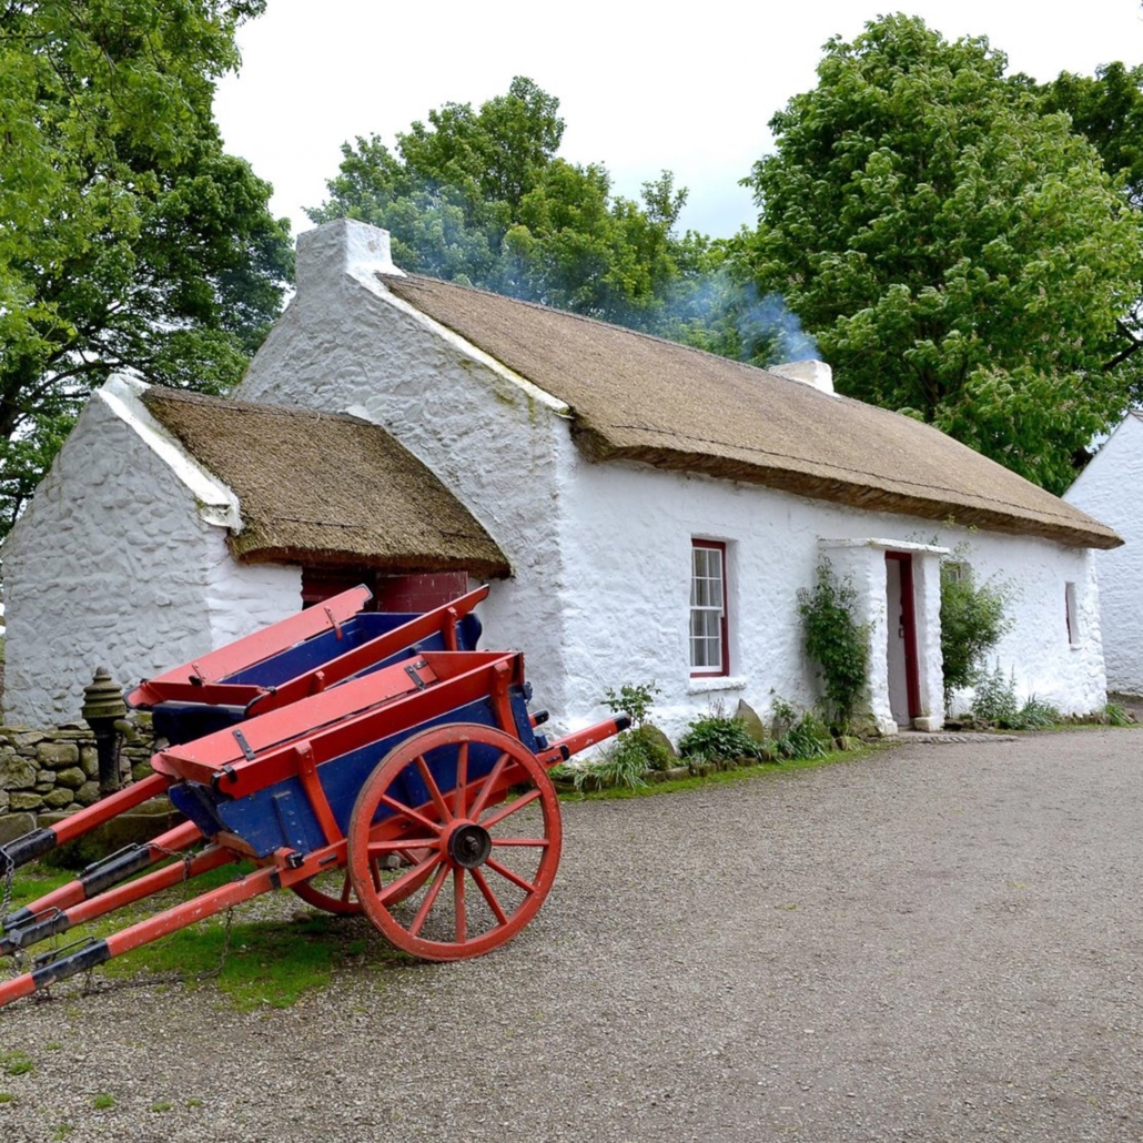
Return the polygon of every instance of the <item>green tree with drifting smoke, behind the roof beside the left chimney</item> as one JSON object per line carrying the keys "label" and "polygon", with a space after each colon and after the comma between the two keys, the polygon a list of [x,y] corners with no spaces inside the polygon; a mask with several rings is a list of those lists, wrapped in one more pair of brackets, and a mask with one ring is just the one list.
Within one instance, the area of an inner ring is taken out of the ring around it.
{"label": "green tree with drifting smoke, behind the roof beside the left chimney", "polygon": [[686,201],[666,171],[640,206],[612,197],[599,163],[557,158],[559,101],[517,77],[473,111],[449,103],[397,136],[342,146],[315,223],[382,226],[405,270],[649,328],[680,273],[673,227]]}

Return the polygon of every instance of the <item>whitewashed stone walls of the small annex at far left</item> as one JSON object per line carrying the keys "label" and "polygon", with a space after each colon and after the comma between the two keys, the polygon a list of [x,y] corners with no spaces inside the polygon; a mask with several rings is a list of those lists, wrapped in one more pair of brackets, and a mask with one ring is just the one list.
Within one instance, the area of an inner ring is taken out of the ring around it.
{"label": "whitewashed stone walls of the small annex at far left", "polygon": [[230,557],[237,501],[136,389],[113,379],[91,398],[5,544],[11,724],[79,717],[96,666],[127,685],[298,609],[296,568]]}

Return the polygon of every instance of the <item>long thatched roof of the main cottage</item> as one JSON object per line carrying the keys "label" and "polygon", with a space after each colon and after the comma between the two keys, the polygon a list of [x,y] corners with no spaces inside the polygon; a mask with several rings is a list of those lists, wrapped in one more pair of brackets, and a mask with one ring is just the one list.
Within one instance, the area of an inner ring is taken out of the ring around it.
{"label": "long thatched roof of the main cottage", "polygon": [[928,425],[617,326],[431,278],[398,297],[573,410],[580,449],[853,507],[1117,547],[1111,529]]}

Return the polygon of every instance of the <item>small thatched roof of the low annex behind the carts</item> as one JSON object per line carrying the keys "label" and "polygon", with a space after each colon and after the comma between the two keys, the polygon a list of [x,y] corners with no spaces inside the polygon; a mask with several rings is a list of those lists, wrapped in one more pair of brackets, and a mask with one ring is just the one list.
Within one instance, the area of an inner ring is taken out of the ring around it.
{"label": "small thatched roof of the low annex behind the carts", "polygon": [[342,414],[149,389],[143,400],[237,494],[245,561],[506,576],[503,552],[383,429]]}

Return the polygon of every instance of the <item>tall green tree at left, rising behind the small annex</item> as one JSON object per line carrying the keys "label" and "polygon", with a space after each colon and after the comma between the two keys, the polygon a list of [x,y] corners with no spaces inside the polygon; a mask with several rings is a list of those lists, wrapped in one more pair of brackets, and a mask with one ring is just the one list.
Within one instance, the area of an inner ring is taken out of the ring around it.
{"label": "tall green tree at left, rising behind the small annex", "polygon": [[0,7],[0,535],[115,369],[219,391],[291,274],[214,80],[264,0]]}

